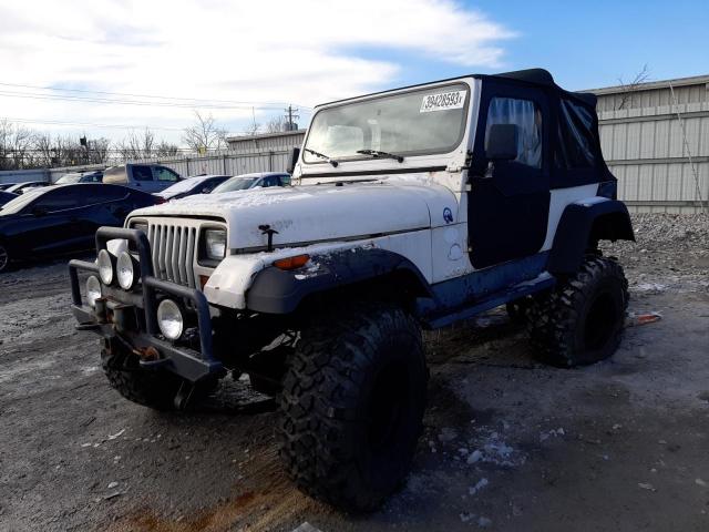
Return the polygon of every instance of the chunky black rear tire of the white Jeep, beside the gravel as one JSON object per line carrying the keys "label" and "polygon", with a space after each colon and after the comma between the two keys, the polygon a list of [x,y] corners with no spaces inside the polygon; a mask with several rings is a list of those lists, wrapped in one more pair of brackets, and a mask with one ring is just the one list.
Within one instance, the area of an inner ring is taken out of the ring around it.
{"label": "chunky black rear tire of the white Jeep, beside the gravel", "polygon": [[628,282],[613,258],[589,256],[578,273],[535,298],[528,329],[537,357],[559,367],[594,364],[620,344]]}

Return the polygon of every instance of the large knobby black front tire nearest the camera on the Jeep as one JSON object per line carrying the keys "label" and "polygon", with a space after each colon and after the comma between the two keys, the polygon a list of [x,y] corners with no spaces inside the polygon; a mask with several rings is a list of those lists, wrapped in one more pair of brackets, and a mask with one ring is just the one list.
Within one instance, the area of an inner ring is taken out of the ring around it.
{"label": "large knobby black front tire nearest the camera on the Jeep", "polygon": [[409,472],[428,383],[421,331],[402,309],[330,309],[301,331],[284,379],[280,454],[296,484],[370,511]]}

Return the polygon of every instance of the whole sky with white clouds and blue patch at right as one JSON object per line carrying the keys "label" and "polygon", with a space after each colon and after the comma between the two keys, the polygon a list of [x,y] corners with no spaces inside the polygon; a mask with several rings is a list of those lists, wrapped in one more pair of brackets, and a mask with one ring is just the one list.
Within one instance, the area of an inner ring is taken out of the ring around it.
{"label": "whole sky with white clouds and blue patch at right", "polygon": [[574,90],[645,63],[709,73],[706,0],[577,3],[0,0],[0,117],[178,142],[195,109],[240,133],[292,103],[306,125],[320,102],[470,72],[543,66]]}

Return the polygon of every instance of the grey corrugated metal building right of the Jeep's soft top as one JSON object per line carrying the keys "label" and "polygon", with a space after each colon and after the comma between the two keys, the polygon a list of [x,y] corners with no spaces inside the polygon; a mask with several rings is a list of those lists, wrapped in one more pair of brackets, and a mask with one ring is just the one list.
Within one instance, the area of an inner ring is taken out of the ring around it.
{"label": "grey corrugated metal building right of the Jeep's soft top", "polygon": [[633,211],[697,213],[709,202],[709,75],[594,89],[600,144]]}

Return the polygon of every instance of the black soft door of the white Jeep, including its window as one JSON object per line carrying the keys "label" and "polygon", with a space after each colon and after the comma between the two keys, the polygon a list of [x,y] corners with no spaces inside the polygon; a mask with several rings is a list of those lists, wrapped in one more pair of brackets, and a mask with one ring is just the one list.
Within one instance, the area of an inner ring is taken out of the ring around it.
{"label": "black soft door of the white Jeep, including its window", "polygon": [[[490,79],[482,85],[467,202],[470,259],[477,269],[538,253],[546,238],[549,209],[546,93]],[[515,126],[512,158],[489,156],[495,124]]]}

